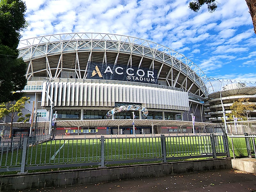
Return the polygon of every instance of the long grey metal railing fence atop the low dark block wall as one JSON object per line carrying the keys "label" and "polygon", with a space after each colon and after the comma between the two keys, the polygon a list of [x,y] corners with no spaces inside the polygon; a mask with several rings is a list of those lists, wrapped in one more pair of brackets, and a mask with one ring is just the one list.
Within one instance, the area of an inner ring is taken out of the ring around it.
{"label": "long grey metal railing fence atop the low dark block wall", "polygon": [[0,172],[229,156],[225,134],[33,139],[1,140]]}

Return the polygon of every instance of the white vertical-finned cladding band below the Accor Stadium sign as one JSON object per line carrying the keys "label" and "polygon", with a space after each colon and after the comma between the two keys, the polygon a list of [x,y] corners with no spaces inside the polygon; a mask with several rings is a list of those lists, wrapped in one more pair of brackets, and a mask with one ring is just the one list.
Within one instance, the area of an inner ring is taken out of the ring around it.
{"label": "white vertical-finned cladding band below the Accor Stadium sign", "polygon": [[[42,106],[50,106],[51,101],[43,84]],[[115,102],[141,103],[147,108],[189,110],[188,93],[176,90],[144,87],[136,85],[106,83],[51,82],[47,92],[54,106],[113,107]]]}

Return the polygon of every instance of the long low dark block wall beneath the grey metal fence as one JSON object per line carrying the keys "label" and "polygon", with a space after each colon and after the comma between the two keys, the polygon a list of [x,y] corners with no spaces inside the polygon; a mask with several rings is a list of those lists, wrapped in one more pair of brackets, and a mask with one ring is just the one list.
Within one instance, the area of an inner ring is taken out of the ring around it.
{"label": "long low dark block wall beneath the grey metal fence", "polygon": [[0,192],[231,169],[231,159],[167,162],[0,176]]}

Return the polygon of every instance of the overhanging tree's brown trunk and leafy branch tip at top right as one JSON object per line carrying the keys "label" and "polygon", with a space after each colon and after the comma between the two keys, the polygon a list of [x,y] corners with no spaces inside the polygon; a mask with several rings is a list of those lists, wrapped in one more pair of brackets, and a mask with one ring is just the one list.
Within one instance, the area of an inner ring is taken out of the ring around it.
{"label": "overhanging tree's brown trunk and leafy branch tip at top right", "polygon": [[[255,0],[245,0],[249,8],[249,13],[252,17],[252,24],[254,28],[254,33],[256,34],[256,1]],[[217,8],[216,0],[194,0],[189,3],[189,8],[194,12],[198,12],[200,8],[206,4],[209,12],[214,12]]]}

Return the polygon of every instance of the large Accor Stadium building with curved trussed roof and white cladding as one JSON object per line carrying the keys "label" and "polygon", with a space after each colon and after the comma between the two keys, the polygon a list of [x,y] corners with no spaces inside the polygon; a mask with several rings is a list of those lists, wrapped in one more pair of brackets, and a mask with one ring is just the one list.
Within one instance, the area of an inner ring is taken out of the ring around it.
{"label": "large Accor Stadium building with curved trussed roof and white cladding", "polygon": [[38,134],[50,133],[51,121],[57,122],[56,134],[76,135],[192,132],[194,125],[203,132],[216,126],[204,123],[206,75],[163,45],[69,33],[22,40],[19,50],[28,65],[23,91],[35,101]]}

